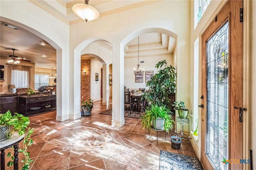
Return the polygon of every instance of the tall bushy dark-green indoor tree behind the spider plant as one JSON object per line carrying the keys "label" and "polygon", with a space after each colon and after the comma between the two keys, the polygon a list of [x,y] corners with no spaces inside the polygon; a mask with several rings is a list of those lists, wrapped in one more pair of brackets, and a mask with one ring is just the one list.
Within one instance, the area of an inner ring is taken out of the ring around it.
{"label": "tall bushy dark-green indoor tree behind the spider plant", "polygon": [[168,97],[176,90],[175,68],[172,65],[167,65],[166,60],[159,61],[155,67],[160,69],[146,83],[146,87],[149,87],[149,89],[144,96],[148,102],[156,105],[166,105],[170,109],[172,103]]}

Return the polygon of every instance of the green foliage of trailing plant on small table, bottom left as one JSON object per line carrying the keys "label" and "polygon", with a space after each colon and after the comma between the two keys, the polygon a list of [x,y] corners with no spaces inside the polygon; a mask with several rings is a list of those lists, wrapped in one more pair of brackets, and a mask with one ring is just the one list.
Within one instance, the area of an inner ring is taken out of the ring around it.
{"label": "green foliage of trailing plant on small table, bottom left", "polygon": [[[27,151],[28,146],[31,146],[31,144],[33,143],[33,140],[30,139],[30,135],[33,133],[34,130],[34,128],[28,128],[29,123],[30,121],[28,117],[24,117],[23,115],[20,115],[18,113],[14,113],[14,115],[12,115],[10,111],[7,111],[4,114],[0,114],[1,134],[3,132],[1,128],[8,128],[8,130],[4,130],[6,133],[3,134],[3,136],[0,138],[1,140],[11,138],[13,132],[18,132],[19,135],[24,135],[23,148],[20,148],[18,150],[18,152],[24,155],[24,159],[21,160],[21,163],[23,163],[22,170],[28,170],[30,167],[30,163],[33,162],[33,160],[30,159],[29,152]],[[11,160],[7,163],[7,166],[14,165],[14,156],[12,156],[13,151],[14,148],[12,148],[12,150],[7,154],[7,157],[11,158]]]}

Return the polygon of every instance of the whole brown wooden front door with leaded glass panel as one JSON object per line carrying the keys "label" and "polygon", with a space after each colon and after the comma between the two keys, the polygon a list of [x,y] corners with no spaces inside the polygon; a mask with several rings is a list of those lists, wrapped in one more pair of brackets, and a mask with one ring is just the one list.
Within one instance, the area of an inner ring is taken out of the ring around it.
{"label": "whole brown wooden front door with leaded glass panel", "polygon": [[201,162],[207,170],[242,169],[240,162],[233,161],[242,159],[243,151],[240,8],[242,1],[229,0],[202,35]]}

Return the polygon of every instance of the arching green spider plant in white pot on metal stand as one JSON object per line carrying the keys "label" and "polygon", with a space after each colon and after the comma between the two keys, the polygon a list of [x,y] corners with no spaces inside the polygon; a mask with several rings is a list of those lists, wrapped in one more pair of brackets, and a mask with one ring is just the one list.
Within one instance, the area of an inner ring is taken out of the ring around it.
{"label": "arching green spider plant in white pot on metal stand", "polygon": [[152,104],[150,107],[147,107],[145,114],[140,117],[141,129],[146,129],[146,131],[155,129],[163,129],[166,132],[169,132],[173,128],[175,123],[170,109],[166,106],[159,106]]}

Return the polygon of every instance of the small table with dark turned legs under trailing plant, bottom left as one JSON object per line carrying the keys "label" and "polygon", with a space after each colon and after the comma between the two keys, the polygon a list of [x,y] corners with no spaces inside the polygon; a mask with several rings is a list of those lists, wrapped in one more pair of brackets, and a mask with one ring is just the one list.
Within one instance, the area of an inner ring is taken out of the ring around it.
{"label": "small table with dark turned legs under trailing plant, bottom left", "polygon": [[18,170],[19,169],[19,165],[18,165],[18,162],[19,162],[19,158],[18,158],[19,152],[18,152],[18,149],[19,149],[19,142],[22,141],[23,138],[24,138],[24,135],[20,136],[18,134],[18,132],[14,132],[13,136],[11,138],[6,139],[6,140],[0,142],[1,170],[5,169],[5,152],[4,152],[4,150],[7,149],[7,148],[10,148],[12,146],[14,146],[14,167],[13,168],[14,168],[14,170]]}

